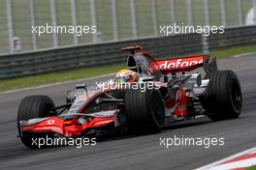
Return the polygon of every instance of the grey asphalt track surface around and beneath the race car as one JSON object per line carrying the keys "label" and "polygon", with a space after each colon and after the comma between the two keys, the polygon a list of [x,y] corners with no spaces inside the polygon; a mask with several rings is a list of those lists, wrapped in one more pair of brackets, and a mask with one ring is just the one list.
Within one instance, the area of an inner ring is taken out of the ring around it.
{"label": "grey asphalt track surface around and beneath the race car", "polygon": [[[256,146],[256,56],[218,61],[220,69],[232,69],[240,77],[243,111],[240,119],[212,123],[201,118],[179,123],[159,134],[124,136],[96,146],[54,147],[31,150],[16,138],[16,112],[20,99],[45,94],[64,102],[67,89],[77,83],[0,94],[0,169],[194,169]],[[99,79],[97,80],[99,81]],[[90,80],[87,83],[95,83]],[[160,137],[224,137],[224,146],[159,145]]]}

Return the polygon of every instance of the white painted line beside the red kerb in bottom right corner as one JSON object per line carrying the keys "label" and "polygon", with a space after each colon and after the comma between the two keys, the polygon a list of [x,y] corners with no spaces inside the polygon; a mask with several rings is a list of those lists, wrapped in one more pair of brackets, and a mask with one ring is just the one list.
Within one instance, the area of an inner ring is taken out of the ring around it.
{"label": "white painted line beside the red kerb in bottom right corner", "polygon": [[[249,153],[252,153],[252,152],[256,152],[256,147],[255,147],[255,148],[248,149],[248,150],[245,150],[245,151],[240,152],[240,153],[238,153],[238,154],[236,154],[236,155],[233,155],[233,156],[228,156],[228,157],[226,157],[226,158],[223,158],[223,159],[221,159],[221,160],[215,161],[215,162],[210,163],[210,164],[208,164],[208,165],[202,166],[202,167],[197,168],[197,169],[195,169],[195,170],[214,169],[214,166],[216,166],[216,165],[218,165],[218,164],[220,164],[220,163],[223,163],[223,162],[225,162],[225,161],[232,160],[232,159],[234,159],[234,158],[236,158],[236,157],[243,156],[243,155],[246,155],[246,154],[249,154]],[[248,164],[248,165],[249,165],[249,164]]]}

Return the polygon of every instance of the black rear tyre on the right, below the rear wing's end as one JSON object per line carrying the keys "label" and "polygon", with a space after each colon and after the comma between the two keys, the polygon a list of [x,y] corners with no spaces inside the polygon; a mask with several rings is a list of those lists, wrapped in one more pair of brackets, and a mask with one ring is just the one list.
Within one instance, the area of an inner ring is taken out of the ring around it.
{"label": "black rear tyre on the right, below the rear wing's end", "polygon": [[203,106],[212,121],[236,119],[240,116],[242,97],[240,81],[234,71],[214,71],[208,74],[208,94]]}

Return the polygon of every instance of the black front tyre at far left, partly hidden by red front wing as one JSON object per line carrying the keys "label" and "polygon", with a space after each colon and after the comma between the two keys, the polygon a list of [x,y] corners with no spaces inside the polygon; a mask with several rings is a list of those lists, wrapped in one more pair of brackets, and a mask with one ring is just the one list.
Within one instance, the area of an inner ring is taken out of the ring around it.
{"label": "black front tyre at far left, partly hidden by red front wing", "polygon": [[54,107],[54,102],[48,96],[29,96],[21,100],[17,111],[17,129],[21,142],[29,148],[38,148],[32,145],[32,138],[46,137],[46,134],[38,134],[23,131],[20,129],[20,121],[33,118],[45,118],[55,116],[50,109]]}

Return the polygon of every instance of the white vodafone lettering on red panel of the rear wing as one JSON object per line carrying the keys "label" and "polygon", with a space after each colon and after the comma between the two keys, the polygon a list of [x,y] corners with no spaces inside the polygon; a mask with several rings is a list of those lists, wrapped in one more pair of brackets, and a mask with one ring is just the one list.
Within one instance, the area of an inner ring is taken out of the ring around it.
{"label": "white vodafone lettering on red panel of the rear wing", "polygon": [[162,60],[157,61],[159,69],[162,71],[166,70],[177,70],[177,69],[186,69],[198,64],[203,63],[203,57],[191,57],[191,58],[180,58],[172,60]]}

